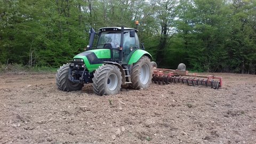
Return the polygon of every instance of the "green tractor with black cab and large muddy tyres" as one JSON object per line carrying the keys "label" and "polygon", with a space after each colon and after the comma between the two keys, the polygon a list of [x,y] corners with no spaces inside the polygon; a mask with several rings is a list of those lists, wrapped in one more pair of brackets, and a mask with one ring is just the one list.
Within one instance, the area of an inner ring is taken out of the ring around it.
{"label": "green tractor with black cab and large muddy tyres", "polygon": [[[76,91],[88,83],[93,83],[98,95],[117,94],[121,85],[147,89],[152,79],[152,57],[140,44],[137,32],[133,28],[106,27],[96,34],[91,28],[87,51],[58,69],[58,89]],[[98,43],[92,49],[95,35]]]}

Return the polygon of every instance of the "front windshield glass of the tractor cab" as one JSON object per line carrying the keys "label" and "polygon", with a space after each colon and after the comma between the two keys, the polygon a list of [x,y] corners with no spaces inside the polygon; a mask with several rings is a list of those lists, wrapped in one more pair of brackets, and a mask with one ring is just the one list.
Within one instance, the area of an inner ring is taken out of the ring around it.
{"label": "front windshield glass of the tractor cab", "polygon": [[121,31],[102,31],[98,41],[97,48],[103,48],[106,43],[113,43],[119,45],[121,41]]}

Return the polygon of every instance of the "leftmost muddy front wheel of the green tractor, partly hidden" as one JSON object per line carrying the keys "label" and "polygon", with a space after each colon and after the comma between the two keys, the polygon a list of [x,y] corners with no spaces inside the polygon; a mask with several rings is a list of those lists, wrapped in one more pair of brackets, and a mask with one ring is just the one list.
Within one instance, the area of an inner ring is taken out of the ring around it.
{"label": "leftmost muddy front wheel of the green tractor, partly hidden", "polygon": [[73,83],[68,79],[68,70],[69,70],[70,63],[63,65],[57,71],[55,75],[55,81],[58,89],[61,91],[78,91],[81,90],[84,86],[81,83]]}

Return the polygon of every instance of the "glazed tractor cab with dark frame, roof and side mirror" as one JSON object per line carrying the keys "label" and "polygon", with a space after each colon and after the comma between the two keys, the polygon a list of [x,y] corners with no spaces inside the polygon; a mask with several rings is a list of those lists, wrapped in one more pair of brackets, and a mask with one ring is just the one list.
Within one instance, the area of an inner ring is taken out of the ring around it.
{"label": "glazed tractor cab with dark frame, roof and side mirror", "polygon": [[[100,28],[96,49],[110,49],[111,61],[122,61],[122,64],[127,64],[132,53],[140,49],[137,32],[138,30],[133,28],[123,28],[123,30],[121,27]],[[92,33],[94,33],[93,29],[91,29]],[[90,35],[90,39],[91,36],[94,37]]]}

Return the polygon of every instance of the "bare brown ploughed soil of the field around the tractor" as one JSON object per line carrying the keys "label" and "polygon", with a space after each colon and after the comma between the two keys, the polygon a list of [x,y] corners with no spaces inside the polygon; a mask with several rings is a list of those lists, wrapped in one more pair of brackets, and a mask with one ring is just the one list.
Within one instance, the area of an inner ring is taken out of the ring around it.
{"label": "bare brown ploughed soil of the field around the tractor", "polygon": [[256,76],[223,87],[151,84],[99,96],[55,74],[0,75],[0,143],[256,143]]}

